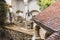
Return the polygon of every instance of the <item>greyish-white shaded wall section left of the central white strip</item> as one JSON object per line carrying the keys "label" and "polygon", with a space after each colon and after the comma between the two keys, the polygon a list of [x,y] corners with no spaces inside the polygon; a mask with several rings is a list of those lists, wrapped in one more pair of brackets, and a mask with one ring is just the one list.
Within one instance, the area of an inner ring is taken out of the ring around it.
{"label": "greyish-white shaded wall section left of the central white strip", "polygon": [[12,10],[16,13],[17,10],[24,11],[24,3],[22,0],[12,0]]}

